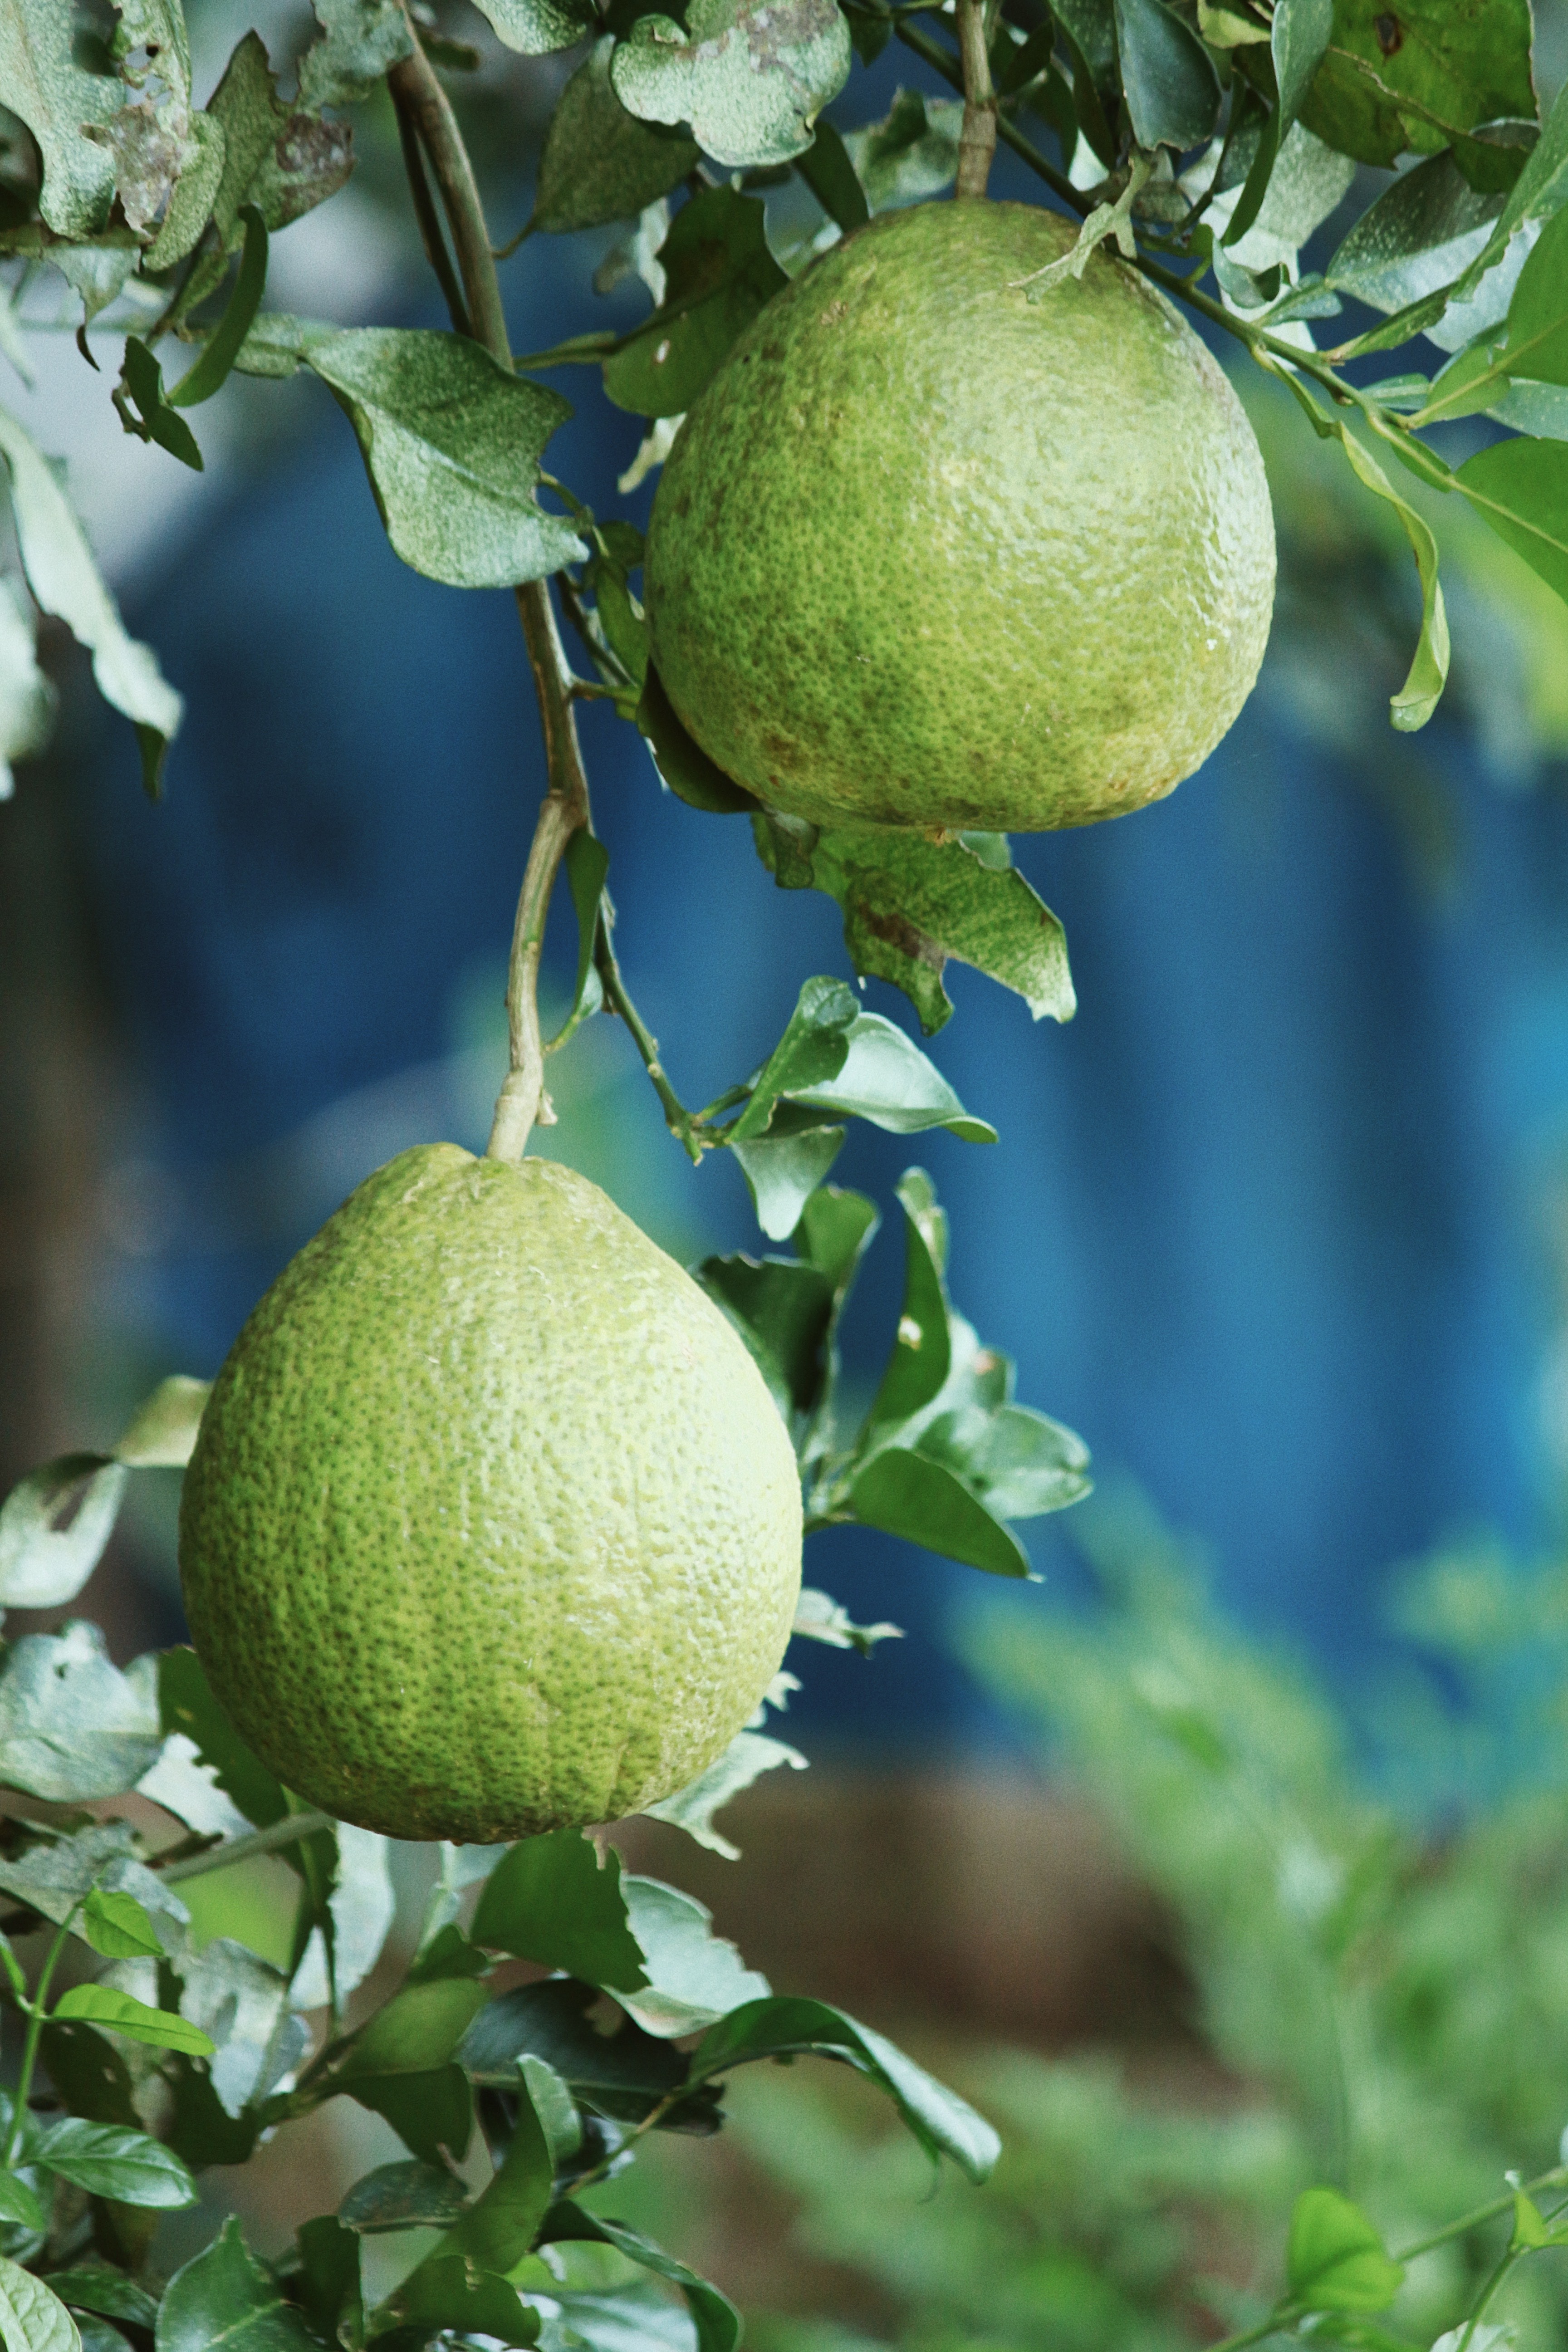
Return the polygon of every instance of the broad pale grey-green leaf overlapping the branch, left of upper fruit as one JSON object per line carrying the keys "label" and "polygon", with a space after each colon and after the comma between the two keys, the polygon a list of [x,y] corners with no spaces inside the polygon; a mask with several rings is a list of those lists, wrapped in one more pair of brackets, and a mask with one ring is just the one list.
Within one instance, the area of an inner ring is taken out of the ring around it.
{"label": "broad pale grey-green leaf overlapping the branch, left of upper fruit", "polygon": [[515,588],[583,562],[583,541],[534,496],[543,447],[571,416],[559,393],[433,327],[350,327],[310,343],[306,362],[353,423],[386,534],[414,572]]}

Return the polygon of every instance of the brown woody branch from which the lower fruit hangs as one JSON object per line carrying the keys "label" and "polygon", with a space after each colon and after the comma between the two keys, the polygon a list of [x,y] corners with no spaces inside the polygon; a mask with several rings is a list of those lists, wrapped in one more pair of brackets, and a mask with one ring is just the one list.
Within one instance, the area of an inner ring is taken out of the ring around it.
{"label": "brown woody branch from which the lower fruit hangs", "polygon": [[[435,275],[442,282],[454,329],[458,334],[470,334],[477,343],[484,343],[491,360],[510,369],[512,348],[505,334],[501,280],[496,278],[496,256],[491,252],[484,205],[480,202],[480,188],[473,176],[473,162],[468,160],[468,148],[463,146],[463,132],[458,129],[451,101],[418,42],[418,31],[411,16],[409,40],[414,47],[409,56],[404,56],[402,64],[393,66],[388,73],[388,89],[393,94],[393,106],[397,108],[397,127],[402,132],[404,160],[409,165],[409,188],[414,193],[414,212],[418,214],[421,233],[425,238],[425,252],[430,254]],[[447,249],[440,240],[435,207],[430,205],[428,188],[423,186],[423,165],[418,174],[414,169],[421,162],[421,153],[440,191],[447,228],[451,230],[451,249],[456,254],[461,278],[461,299],[458,287],[451,280],[451,270],[442,268],[435,259],[435,252],[440,249],[444,261]],[[435,247],[430,230],[437,230]],[[512,924],[512,955],[505,976],[510,1068],[496,1101],[496,1120],[484,1148],[489,1160],[522,1160],[534,1122],[541,1120],[548,1124],[555,1117],[545,1096],[545,1049],[538,1028],[538,960],[545,943],[550,891],[555,889],[567,842],[578,826],[588,823],[588,771],[583,769],[583,750],[576,734],[574,677],[567,649],[562,647],[559,628],[555,626],[550,586],[548,581],[524,581],[515,593],[522,637],[529,649],[529,668],[534,670],[534,694],[538,696],[538,717],[545,736],[545,771],[550,781],[538,804],[529,863],[517,896],[517,922]]]}

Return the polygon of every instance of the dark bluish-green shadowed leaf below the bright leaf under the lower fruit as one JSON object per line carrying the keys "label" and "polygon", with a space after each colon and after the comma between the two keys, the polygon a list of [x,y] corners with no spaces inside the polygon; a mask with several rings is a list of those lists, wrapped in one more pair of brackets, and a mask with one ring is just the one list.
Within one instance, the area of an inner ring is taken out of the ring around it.
{"label": "dark bluish-green shadowed leaf below the bright leaf under the lower fruit", "polygon": [[635,2018],[623,2016],[614,2032],[599,2032],[590,2023],[597,2002],[597,1987],[574,1978],[517,1985],[480,2011],[458,2056],[475,2082],[505,2091],[522,2058],[543,2058],[583,2105],[639,2124],[679,2091],[686,2060]]}

